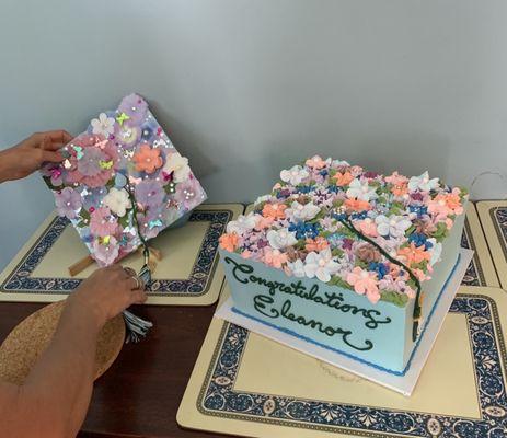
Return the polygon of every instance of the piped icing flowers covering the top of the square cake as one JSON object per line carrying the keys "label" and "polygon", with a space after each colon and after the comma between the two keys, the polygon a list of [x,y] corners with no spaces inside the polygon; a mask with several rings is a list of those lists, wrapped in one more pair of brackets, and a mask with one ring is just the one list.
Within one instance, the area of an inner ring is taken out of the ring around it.
{"label": "piped icing flowers covering the top of the square cake", "polygon": [[418,298],[468,197],[427,172],[384,176],[319,155],[280,180],[252,212],[229,222],[221,247],[372,303]]}

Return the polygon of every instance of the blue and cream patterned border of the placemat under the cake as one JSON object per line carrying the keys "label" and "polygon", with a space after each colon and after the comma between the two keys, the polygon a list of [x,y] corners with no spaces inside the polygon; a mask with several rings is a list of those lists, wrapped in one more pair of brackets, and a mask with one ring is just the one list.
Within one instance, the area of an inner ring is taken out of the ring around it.
{"label": "blue and cream patterned border of the placemat under the cake", "polygon": [[440,434],[486,436],[495,428],[500,428],[498,431],[505,430],[507,395],[503,369],[507,366],[507,353],[496,302],[483,295],[460,293],[450,311],[466,315],[475,359],[480,419],[234,391],[234,379],[241,367],[249,332],[226,322],[200,388],[196,408],[203,415],[219,418],[369,438],[430,438]]}

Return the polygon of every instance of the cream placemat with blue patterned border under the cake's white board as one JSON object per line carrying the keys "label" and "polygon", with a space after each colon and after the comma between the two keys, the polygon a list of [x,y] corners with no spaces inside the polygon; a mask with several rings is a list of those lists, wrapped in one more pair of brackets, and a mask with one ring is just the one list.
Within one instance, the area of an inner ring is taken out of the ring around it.
{"label": "cream placemat with blue patterned border under the cake's white board", "polygon": [[177,422],[269,438],[504,437],[506,323],[505,291],[462,286],[405,397],[214,319]]}

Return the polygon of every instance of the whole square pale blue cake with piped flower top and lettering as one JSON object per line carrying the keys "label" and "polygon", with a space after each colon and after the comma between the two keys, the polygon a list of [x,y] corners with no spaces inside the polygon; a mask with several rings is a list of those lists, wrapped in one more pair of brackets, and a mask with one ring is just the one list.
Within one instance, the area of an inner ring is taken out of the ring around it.
{"label": "whole square pale blue cake with piped flower top and lettering", "polygon": [[466,191],[315,155],[228,224],[233,311],[405,374],[459,261]]}

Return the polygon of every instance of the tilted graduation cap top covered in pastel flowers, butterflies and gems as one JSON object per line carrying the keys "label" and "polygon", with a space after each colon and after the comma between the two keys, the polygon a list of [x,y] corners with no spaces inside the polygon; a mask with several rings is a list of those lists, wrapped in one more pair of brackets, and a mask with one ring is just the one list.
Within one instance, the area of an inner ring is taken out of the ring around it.
{"label": "tilted graduation cap top covered in pastel flowers, butterflies and gems", "polygon": [[100,113],[42,174],[57,211],[101,266],[115,263],[206,199],[206,193],[137,94]]}

